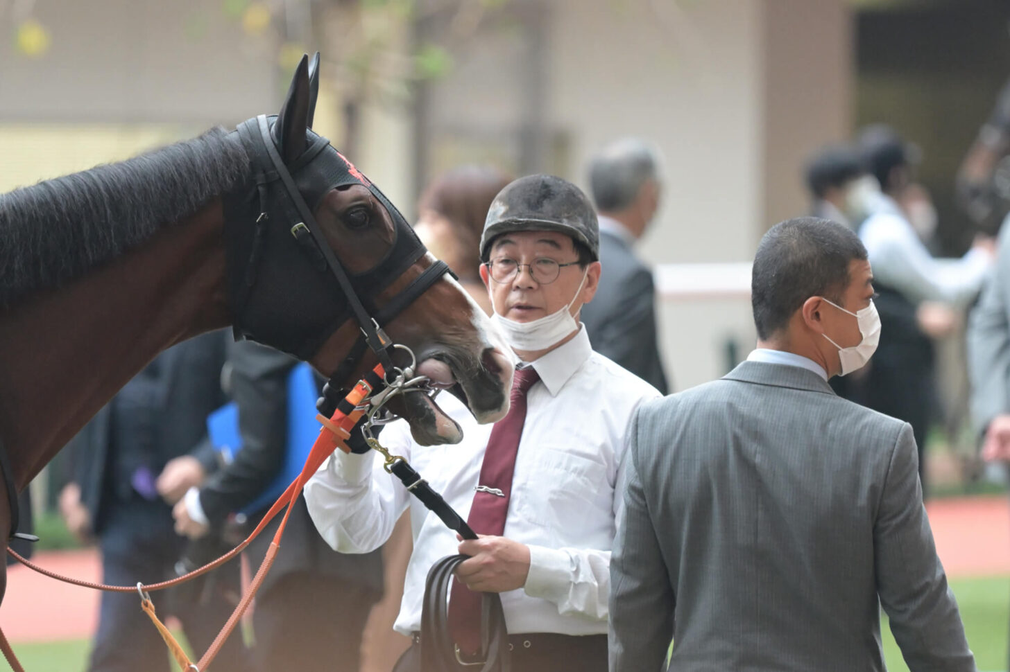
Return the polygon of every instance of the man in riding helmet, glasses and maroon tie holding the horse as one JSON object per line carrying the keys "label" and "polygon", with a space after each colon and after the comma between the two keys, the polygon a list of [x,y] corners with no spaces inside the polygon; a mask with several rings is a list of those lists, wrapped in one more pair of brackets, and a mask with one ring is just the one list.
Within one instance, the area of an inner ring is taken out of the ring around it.
{"label": "man in riding helmet, glasses and maroon tie holding the horse", "polygon": [[[481,277],[495,322],[519,359],[508,416],[479,426],[442,402],[464,428],[457,446],[423,447],[402,421],[382,443],[402,455],[482,537],[460,543],[373,454],[334,454],[305,488],[333,548],[380,546],[410,510],[414,552],[396,630],[419,641],[425,575],[438,559],[457,570],[448,629],[461,670],[483,661],[480,592],[501,596],[513,669],[607,669],[610,550],[624,432],[654,387],[593,352],[579,323],[600,278],[599,226],[586,196],[551,176],[508,185],[481,239]],[[441,402],[441,400],[439,400]],[[414,646],[398,672],[419,670]]]}

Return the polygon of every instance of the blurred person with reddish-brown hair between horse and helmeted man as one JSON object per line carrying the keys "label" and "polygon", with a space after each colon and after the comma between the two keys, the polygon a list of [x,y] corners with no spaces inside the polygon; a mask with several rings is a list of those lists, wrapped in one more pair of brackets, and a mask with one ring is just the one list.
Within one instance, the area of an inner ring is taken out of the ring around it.
{"label": "blurred person with reddish-brown hair between horse and helmeted man", "polygon": [[421,242],[448,264],[460,284],[491,314],[488,291],[481,282],[478,253],[491,201],[512,179],[490,165],[463,165],[431,183],[417,204],[414,225]]}

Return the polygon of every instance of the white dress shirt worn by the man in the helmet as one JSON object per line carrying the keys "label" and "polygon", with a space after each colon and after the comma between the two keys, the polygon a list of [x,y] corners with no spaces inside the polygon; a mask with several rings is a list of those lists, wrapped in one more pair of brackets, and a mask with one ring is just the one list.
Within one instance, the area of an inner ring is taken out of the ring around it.
{"label": "white dress shirt worn by the man in the helmet", "polygon": [[[615,492],[624,434],[632,412],[660,393],[593,352],[583,328],[531,364],[540,376],[527,394],[504,536],[529,547],[523,588],[501,593],[508,632],[602,635],[607,632],[610,549],[623,497]],[[419,446],[403,421],[379,437],[402,455],[464,519],[492,425],[478,425],[447,394],[439,406],[464,429],[457,445]],[[375,451],[337,451],[305,486],[305,500],[323,539],[343,553],[366,553],[389,539],[410,509],[414,552],[407,566],[394,628],[420,629],[428,569],[456,555],[456,533],[386,473]]]}

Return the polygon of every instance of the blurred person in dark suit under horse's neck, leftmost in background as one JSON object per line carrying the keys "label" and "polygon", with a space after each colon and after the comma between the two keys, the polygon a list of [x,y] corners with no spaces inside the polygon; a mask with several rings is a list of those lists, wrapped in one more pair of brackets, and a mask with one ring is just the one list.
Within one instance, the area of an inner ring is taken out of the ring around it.
{"label": "blurred person in dark suit under horse's neck, leftmost in background", "polygon": [[[75,536],[98,540],[104,583],[176,577],[187,540],[173,531],[172,505],[218,466],[206,419],[225,402],[220,378],[226,338],[220,331],[204,334],[160,354],[67,446],[69,481],[60,510]],[[203,653],[238,601],[238,563],[194,581],[150,596],[162,620],[178,618],[192,648]],[[195,585],[200,587],[194,591]],[[236,632],[215,669],[244,670],[244,656]],[[88,669],[169,671],[165,644],[140,611],[136,593],[102,593]]]}

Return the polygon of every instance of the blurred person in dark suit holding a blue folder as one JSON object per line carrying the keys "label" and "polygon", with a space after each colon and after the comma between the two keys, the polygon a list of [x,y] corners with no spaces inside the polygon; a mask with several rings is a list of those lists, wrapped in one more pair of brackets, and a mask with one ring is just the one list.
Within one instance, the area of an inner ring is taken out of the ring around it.
{"label": "blurred person in dark suit holding a blue folder", "polygon": [[[254,501],[281,469],[287,450],[288,378],[298,360],[239,341],[229,347],[227,362],[225,382],[238,407],[242,449],[176,505],[176,530],[192,539],[220,530],[233,512]],[[304,413],[314,417],[316,410]],[[248,531],[272,503],[248,516]],[[281,518],[246,548],[254,572]],[[332,551],[316,533],[305,498],[299,496],[274,566],[257,593],[254,669],[358,672],[362,633],[372,605],[382,596],[382,577],[379,551],[358,556]]]}

